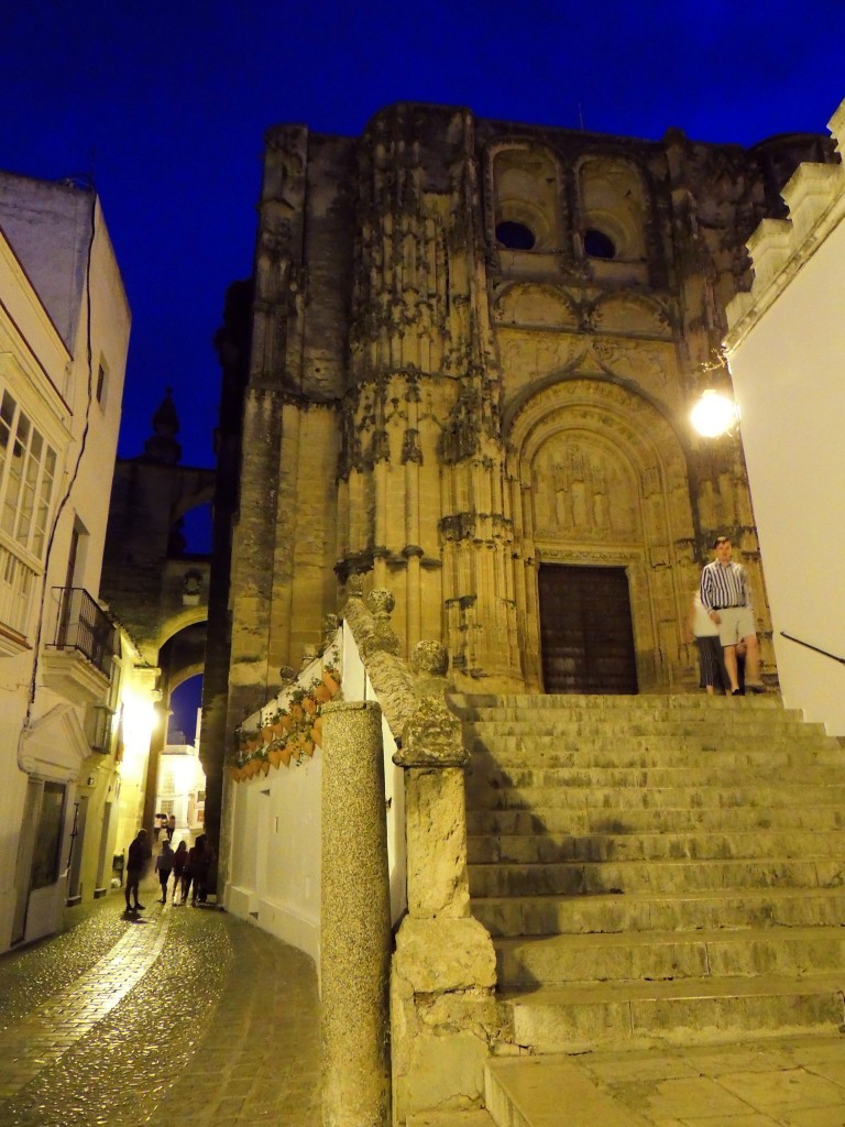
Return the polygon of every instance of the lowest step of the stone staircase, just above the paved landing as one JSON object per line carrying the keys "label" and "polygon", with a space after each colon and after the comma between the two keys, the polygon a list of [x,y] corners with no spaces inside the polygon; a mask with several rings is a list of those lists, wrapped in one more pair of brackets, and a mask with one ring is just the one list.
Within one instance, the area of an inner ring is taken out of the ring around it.
{"label": "lowest step of the stone staircase, just above the paved landing", "polygon": [[831,1033],[843,1020],[840,973],[541,986],[502,999],[514,1041],[534,1053]]}

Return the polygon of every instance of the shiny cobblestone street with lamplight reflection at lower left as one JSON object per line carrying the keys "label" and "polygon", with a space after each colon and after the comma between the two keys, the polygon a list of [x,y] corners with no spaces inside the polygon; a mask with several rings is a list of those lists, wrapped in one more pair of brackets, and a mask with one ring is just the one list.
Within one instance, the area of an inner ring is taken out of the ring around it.
{"label": "shiny cobblestone street with lamplight reflection at lower left", "polygon": [[317,976],[224,912],[123,891],[0,959],[0,1127],[317,1127]]}

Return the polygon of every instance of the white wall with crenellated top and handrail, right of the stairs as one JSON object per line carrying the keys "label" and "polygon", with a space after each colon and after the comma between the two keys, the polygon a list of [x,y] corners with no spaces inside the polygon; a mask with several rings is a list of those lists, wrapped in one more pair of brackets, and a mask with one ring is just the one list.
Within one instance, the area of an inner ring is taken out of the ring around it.
{"label": "white wall with crenellated top and handrail, right of the stairs", "polygon": [[[830,126],[842,153],[845,103]],[[845,665],[782,637],[845,657],[845,169],[802,166],[783,195],[726,348],[784,703],[845,735]]]}

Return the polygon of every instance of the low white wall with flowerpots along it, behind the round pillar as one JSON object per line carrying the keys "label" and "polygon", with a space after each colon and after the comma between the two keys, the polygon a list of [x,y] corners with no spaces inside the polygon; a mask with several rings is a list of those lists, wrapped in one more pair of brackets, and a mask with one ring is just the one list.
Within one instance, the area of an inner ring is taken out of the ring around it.
{"label": "low white wall with flowerpots along it, behind the round pillar", "polygon": [[[352,631],[344,627],[337,645],[341,694],[347,701],[375,700]],[[313,680],[319,663],[305,669]],[[263,710],[273,710],[269,702]],[[260,713],[244,727],[257,727]],[[395,742],[384,720],[385,817],[391,913],[395,923],[406,907],[403,775],[392,762]],[[224,891],[229,912],[320,960],[322,751],[299,765],[270,767],[232,787],[232,852]]]}

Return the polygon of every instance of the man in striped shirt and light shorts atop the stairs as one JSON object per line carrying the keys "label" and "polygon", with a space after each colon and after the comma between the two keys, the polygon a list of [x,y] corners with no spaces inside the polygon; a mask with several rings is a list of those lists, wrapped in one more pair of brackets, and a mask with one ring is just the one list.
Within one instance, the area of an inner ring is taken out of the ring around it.
{"label": "man in striped shirt and light shorts atop the stairs", "polygon": [[731,694],[740,694],[737,671],[737,645],[740,641],[745,644],[746,651],[746,689],[753,693],[764,693],[766,690],[759,680],[759,646],[754,628],[748,575],[741,564],[731,561],[733,545],[729,536],[717,536],[713,549],[715,559],[702,571],[700,594],[708,615],[719,627]]}

